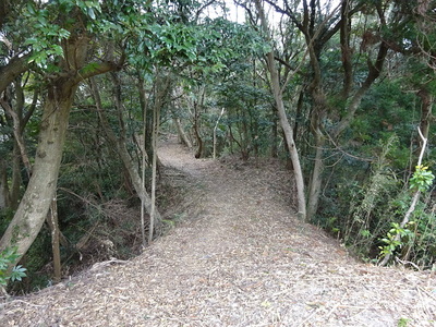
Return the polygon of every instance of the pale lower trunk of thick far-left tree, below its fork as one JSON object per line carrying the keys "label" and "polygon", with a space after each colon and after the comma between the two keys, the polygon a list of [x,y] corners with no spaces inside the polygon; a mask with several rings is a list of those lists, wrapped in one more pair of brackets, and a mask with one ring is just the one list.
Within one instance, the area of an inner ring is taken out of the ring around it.
{"label": "pale lower trunk of thick far-left tree, below its fork", "polygon": [[70,109],[77,87],[71,82],[63,82],[49,85],[32,178],[0,240],[0,250],[17,247],[20,257],[15,263],[27,252],[39,233],[57,187]]}

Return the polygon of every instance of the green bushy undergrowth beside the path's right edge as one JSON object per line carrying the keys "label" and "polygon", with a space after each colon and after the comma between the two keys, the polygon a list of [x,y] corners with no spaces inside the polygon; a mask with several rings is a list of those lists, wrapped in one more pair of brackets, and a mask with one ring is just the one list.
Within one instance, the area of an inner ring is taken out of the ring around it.
{"label": "green bushy undergrowth beside the path's right edge", "polygon": [[[410,185],[420,183],[427,189],[433,183],[429,179],[433,174],[423,166],[423,178],[415,172],[409,179],[410,174],[404,178],[402,171],[392,168],[391,158],[399,152],[395,135],[379,143],[378,148],[364,182],[362,173],[355,173],[352,179],[338,183],[341,186],[324,199],[330,208],[324,208],[318,220],[364,261],[377,263],[390,254],[392,263],[431,269],[436,264],[436,204],[432,192],[424,193],[407,226],[401,227],[400,222],[416,189]],[[416,171],[421,171],[419,167]]]}

